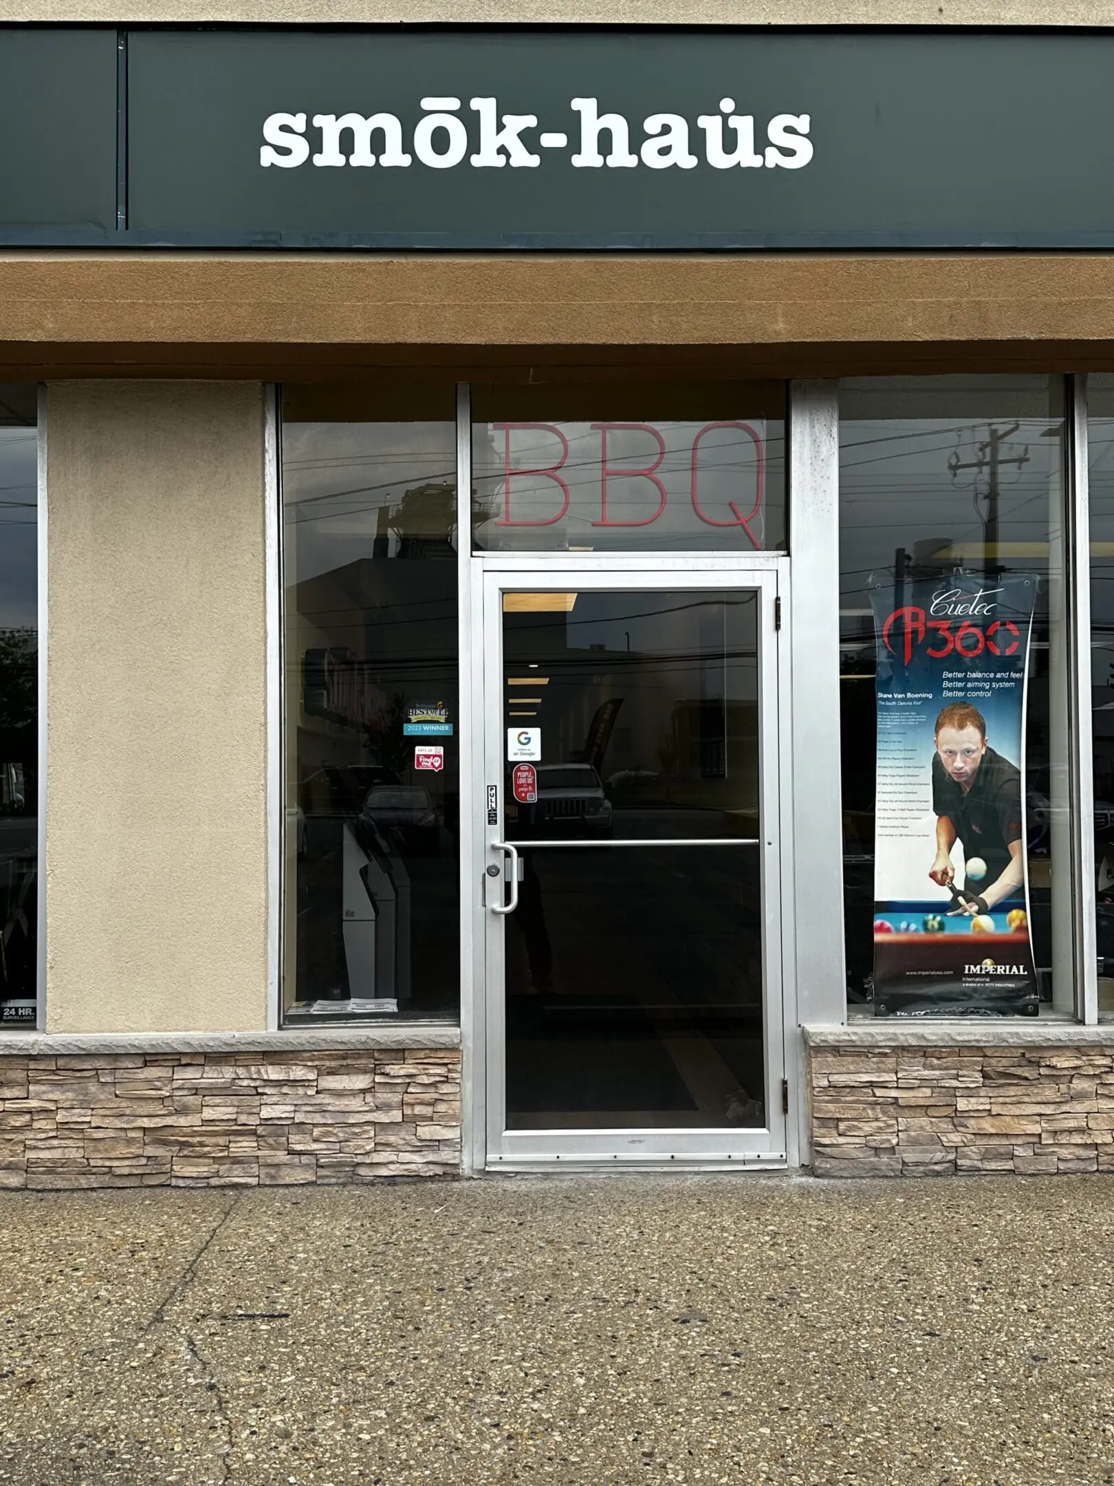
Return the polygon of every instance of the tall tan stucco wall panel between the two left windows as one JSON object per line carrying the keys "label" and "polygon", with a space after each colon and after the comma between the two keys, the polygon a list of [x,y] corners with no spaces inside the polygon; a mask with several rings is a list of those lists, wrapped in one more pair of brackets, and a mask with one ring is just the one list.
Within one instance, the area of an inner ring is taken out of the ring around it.
{"label": "tall tan stucco wall panel between the two left windows", "polygon": [[266,1025],[263,389],[48,389],[49,1031]]}

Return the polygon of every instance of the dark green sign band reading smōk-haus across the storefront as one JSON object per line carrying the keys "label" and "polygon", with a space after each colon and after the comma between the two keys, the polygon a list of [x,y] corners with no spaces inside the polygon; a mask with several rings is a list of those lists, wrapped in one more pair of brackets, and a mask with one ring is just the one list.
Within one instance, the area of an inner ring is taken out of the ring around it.
{"label": "dark green sign band reading sm\u014dk-haus across the storefront", "polygon": [[0,242],[1114,247],[1104,31],[4,28]]}

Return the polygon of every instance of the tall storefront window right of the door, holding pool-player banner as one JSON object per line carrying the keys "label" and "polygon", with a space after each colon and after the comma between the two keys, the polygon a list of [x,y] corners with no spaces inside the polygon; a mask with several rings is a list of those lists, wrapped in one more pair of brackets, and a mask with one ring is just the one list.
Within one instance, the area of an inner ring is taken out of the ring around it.
{"label": "tall storefront window right of the door, holding pool-player banner", "polygon": [[1071,1012],[1062,385],[841,386],[850,1012]]}

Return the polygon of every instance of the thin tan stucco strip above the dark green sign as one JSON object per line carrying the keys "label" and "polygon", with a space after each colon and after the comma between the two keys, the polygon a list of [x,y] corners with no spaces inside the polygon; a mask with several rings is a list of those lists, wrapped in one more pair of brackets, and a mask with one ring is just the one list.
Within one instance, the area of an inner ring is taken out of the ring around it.
{"label": "thin tan stucco strip above the dark green sign", "polygon": [[1114,0],[3,0],[6,21],[1114,25]]}

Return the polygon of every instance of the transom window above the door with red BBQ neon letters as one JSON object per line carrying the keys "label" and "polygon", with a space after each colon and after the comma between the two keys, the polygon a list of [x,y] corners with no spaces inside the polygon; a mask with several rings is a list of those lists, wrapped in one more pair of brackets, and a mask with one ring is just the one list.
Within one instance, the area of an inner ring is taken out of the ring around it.
{"label": "transom window above the door with red BBQ neon letters", "polygon": [[472,388],[477,551],[781,551],[784,385]]}

